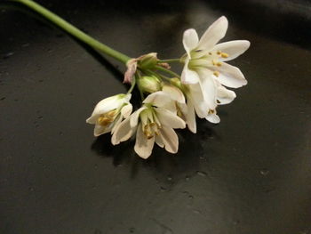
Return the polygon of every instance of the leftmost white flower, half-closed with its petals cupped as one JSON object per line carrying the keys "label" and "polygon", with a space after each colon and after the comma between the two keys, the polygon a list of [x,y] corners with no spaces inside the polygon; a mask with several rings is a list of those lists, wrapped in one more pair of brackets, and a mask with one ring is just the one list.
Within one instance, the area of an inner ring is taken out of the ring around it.
{"label": "leftmost white flower, half-closed with its petals cupped", "polygon": [[100,101],[92,112],[92,116],[86,119],[86,123],[95,125],[94,135],[114,133],[124,117],[132,113],[130,103],[131,93],[116,94]]}

